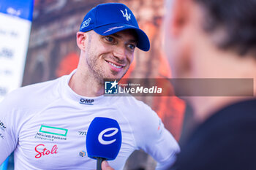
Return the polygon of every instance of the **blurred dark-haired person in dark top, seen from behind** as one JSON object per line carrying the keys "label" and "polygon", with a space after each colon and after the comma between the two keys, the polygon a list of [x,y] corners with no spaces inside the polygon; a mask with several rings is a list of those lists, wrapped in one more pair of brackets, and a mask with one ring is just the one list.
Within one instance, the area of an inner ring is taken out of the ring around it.
{"label": "blurred dark-haired person in dark top, seen from behind", "polygon": [[[164,45],[173,78],[251,80],[219,87],[230,96],[182,97],[197,125],[171,169],[256,169],[255,8],[255,0],[167,0]],[[181,85],[177,94],[182,87],[198,91]]]}

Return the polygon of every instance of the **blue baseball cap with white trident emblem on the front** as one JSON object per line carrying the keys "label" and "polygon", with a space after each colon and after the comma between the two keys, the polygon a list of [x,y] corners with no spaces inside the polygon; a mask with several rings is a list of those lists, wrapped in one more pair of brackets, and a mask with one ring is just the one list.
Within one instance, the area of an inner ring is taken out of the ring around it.
{"label": "blue baseball cap with white trident emblem on the front", "polygon": [[140,50],[148,51],[150,42],[148,36],[142,31],[131,9],[120,3],[99,4],[91,9],[83,18],[80,31],[94,30],[97,34],[108,36],[118,31],[133,29],[138,35]]}

